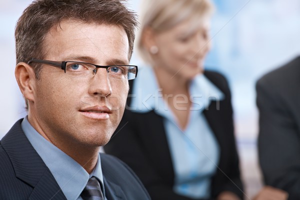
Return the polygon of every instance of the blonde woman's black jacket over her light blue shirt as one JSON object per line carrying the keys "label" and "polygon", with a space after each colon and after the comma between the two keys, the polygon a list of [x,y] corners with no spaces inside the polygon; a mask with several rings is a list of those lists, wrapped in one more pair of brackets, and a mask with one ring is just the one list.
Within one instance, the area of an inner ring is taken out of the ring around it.
{"label": "blonde woman's black jacket over her light blue shirt", "polygon": [[[208,109],[204,110],[220,147],[218,170],[211,183],[211,196],[216,197],[221,191],[228,190],[242,198],[228,84],[219,73],[206,71],[204,74],[225,94],[224,100],[212,100]],[[130,105],[130,98],[127,99],[127,105]],[[174,171],[163,118],[153,110],[147,113],[125,110],[115,135],[104,146],[104,150],[119,157],[133,169],[153,200],[190,199],[172,190]]]}

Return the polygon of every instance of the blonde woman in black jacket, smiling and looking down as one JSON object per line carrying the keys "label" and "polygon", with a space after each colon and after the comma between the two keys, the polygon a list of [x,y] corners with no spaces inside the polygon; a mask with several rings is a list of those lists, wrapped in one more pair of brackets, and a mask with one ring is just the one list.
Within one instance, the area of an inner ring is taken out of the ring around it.
{"label": "blonde woman in black jacket, smiling and looking down", "polygon": [[209,0],[142,2],[139,70],[107,153],[126,162],[151,198],[242,199],[225,78],[204,70]]}

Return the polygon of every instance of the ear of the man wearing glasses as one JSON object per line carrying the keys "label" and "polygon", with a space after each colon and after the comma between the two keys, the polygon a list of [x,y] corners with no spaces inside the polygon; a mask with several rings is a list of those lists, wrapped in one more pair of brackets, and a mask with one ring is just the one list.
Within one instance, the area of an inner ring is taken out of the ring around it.
{"label": "ear of the man wearing glasses", "polygon": [[36,77],[34,70],[25,62],[19,62],[14,71],[17,84],[26,100],[34,101]]}

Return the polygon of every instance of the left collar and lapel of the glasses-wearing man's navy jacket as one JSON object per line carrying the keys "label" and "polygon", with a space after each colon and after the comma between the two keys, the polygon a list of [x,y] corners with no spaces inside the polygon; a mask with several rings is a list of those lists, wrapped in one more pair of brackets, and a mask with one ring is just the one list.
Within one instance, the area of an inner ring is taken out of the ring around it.
{"label": "left collar and lapel of the glasses-wearing man's navy jacket", "polygon": [[32,147],[18,120],[1,139],[13,165],[15,176],[33,190],[28,199],[66,199],[56,180]]}

